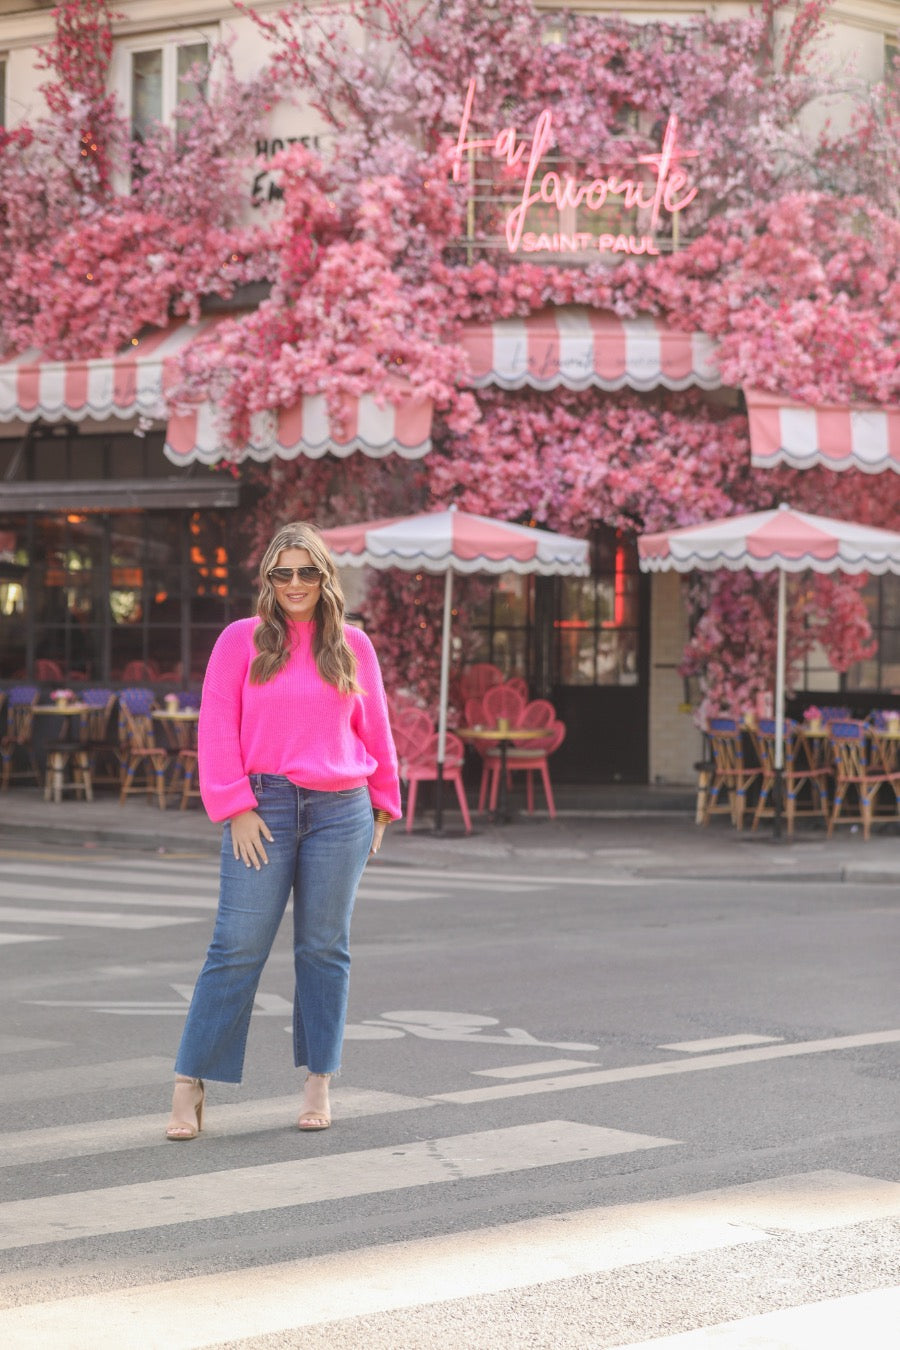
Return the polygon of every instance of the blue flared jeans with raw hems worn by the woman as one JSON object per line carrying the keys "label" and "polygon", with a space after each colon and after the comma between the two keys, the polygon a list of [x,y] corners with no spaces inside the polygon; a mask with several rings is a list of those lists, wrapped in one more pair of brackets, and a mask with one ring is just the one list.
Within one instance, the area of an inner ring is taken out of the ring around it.
{"label": "blue flared jeans with raw hems worn by the woman", "polygon": [[273,834],[259,871],[221,841],[219,914],[188,1011],[175,1073],[240,1083],[256,986],[294,892],[294,1064],[336,1073],[349,987],[349,919],[372,842],[368,788],[314,792],[252,774]]}

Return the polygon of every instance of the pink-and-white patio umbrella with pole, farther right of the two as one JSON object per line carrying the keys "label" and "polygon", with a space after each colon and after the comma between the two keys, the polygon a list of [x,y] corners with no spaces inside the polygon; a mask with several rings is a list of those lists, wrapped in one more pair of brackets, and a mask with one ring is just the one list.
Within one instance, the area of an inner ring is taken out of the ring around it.
{"label": "pink-and-white patio umbrella with pole, farther right of the two", "polygon": [[[645,572],[690,572],[694,568],[779,572],[775,668],[775,768],[784,768],[784,682],[788,572],[900,572],[900,533],[853,521],[807,516],[781,505],[777,510],[730,516],[638,539]],[[781,794],[776,790],[776,802]],[[777,818],[776,818],[777,828]]]}

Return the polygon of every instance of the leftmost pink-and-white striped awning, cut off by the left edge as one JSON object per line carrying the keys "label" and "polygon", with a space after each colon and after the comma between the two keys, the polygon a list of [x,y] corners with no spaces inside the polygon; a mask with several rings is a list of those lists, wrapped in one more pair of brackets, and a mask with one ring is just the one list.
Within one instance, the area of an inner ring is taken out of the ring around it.
{"label": "leftmost pink-and-white striped awning, cut off by the left edge", "polygon": [[115,356],[49,360],[35,348],[0,362],[0,421],[108,421],[166,416],[173,358],[215,320],[175,323]]}

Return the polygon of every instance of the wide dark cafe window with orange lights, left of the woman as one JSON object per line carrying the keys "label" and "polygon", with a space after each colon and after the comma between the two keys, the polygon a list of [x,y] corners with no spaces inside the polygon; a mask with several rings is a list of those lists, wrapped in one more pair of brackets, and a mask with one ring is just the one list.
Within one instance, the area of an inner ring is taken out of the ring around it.
{"label": "wide dark cafe window with orange lights, left of the woman", "polygon": [[221,510],[0,517],[0,679],[132,680],[140,663],[197,684],[225,624],[252,613],[248,556]]}

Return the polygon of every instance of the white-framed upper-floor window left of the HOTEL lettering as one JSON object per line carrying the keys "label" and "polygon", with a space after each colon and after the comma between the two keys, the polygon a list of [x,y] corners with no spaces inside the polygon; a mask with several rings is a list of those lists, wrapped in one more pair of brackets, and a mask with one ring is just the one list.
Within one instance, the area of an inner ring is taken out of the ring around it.
{"label": "white-framed upper-floor window left of the HOTEL lettering", "polygon": [[123,46],[117,82],[135,140],[146,140],[159,123],[170,126],[179,104],[205,96],[212,40],[192,32]]}

